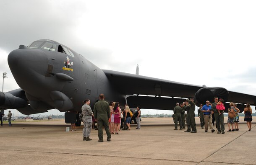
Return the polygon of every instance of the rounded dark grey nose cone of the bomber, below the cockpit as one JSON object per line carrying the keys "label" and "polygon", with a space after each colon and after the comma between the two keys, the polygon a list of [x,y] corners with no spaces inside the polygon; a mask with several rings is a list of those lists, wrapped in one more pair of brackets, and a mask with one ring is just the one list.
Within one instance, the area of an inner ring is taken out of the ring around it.
{"label": "rounded dark grey nose cone of the bomber, below the cockpit", "polygon": [[8,55],[8,64],[13,77],[22,88],[22,86],[26,86],[27,81],[33,81],[32,77],[45,75],[48,59],[40,49],[16,49]]}

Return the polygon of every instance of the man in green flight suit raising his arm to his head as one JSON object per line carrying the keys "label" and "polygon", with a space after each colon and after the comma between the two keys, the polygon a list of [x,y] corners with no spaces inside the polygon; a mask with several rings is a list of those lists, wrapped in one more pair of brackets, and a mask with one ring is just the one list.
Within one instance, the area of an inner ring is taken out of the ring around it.
{"label": "man in green flight suit raising his arm to his head", "polygon": [[[196,109],[196,104],[194,103],[194,98],[186,99],[188,103],[191,105],[189,108],[189,113],[188,113],[188,120],[187,120],[187,125],[191,126],[191,133],[196,133],[196,121],[195,121],[195,109]],[[188,132],[190,128],[188,128],[185,132]]]}

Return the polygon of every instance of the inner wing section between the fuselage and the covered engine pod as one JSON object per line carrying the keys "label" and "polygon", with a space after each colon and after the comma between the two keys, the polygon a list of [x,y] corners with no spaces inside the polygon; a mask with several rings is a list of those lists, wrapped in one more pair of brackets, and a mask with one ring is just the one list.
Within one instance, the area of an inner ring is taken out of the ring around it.
{"label": "inner wing section between the fuselage and the covered engine pod", "polygon": [[103,70],[110,82],[118,88],[120,93],[126,95],[157,95],[189,98],[194,97],[197,90],[203,88],[199,85],[178,83],[141,75]]}

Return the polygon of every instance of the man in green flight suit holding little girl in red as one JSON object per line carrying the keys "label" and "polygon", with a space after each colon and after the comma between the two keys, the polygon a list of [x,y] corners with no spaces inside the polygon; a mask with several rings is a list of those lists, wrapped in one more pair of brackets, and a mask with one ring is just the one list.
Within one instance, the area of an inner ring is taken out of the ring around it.
{"label": "man in green flight suit holding little girl in red", "polygon": [[218,97],[214,97],[214,103],[212,103],[212,110],[214,111],[214,117],[215,117],[217,129],[218,129],[217,134],[220,134],[220,131],[222,134],[225,134],[223,111],[220,111],[221,114],[219,115],[219,112],[216,108],[218,101],[219,101]]}

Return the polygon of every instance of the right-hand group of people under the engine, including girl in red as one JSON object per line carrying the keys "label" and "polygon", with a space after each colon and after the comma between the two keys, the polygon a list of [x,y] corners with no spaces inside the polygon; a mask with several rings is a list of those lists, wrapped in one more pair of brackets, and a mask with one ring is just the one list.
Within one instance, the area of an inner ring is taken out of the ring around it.
{"label": "right-hand group of people under the engine, including girl in red", "polygon": [[[230,108],[228,108],[229,116],[227,119],[228,131],[238,131],[239,123],[239,112],[236,103],[230,103]],[[210,127],[211,132],[214,132],[214,121],[216,121],[217,134],[225,134],[224,126],[224,101],[222,98],[214,97],[214,103],[206,101],[206,104],[200,104],[198,110],[198,116],[200,118],[201,129],[204,129],[205,132],[208,132],[208,127]],[[196,133],[196,123],[195,123],[195,103],[194,98],[186,99],[183,103],[176,103],[173,113],[175,114],[175,130],[178,130],[178,122],[180,124],[180,129],[185,129],[185,121],[183,120],[183,115],[185,111],[188,113],[187,119],[187,130],[185,132]],[[249,128],[248,131],[251,131],[251,121],[252,121],[252,109],[250,104],[246,104],[244,108],[244,121],[247,122]],[[231,127],[232,129],[231,129]]]}

